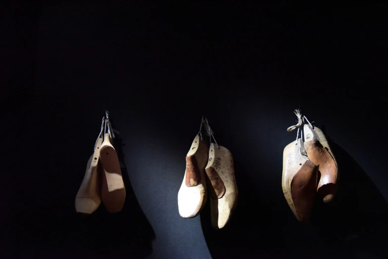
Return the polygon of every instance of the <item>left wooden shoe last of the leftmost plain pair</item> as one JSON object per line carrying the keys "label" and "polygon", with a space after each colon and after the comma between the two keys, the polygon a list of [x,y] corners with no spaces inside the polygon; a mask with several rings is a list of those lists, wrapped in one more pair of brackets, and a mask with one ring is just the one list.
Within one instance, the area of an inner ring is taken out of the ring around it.
{"label": "left wooden shoe last of the leftmost plain pair", "polygon": [[91,214],[101,203],[100,177],[98,174],[98,162],[102,138],[97,139],[96,149],[89,158],[85,176],[75,196],[75,211],[78,213]]}

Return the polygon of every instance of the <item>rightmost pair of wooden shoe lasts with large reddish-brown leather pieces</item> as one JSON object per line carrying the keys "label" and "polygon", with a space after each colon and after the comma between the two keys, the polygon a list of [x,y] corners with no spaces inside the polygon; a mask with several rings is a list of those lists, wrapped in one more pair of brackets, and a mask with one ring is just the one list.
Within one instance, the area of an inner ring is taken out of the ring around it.
{"label": "rightmost pair of wooden shoe lasts with large reddish-brown leather pieces", "polygon": [[337,191],[338,167],[321,129],[303,127],[303,138],[291,142],[283,152],[283,194],[295,217],[310,219],[316,194],[330,202]]}

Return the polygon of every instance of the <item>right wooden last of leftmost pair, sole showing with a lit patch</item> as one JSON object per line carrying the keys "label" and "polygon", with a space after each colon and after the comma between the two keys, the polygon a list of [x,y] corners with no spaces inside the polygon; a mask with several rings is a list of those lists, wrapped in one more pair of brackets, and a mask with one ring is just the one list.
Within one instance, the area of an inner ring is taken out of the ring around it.
{"label": "right wooden last of leftmost pair, sole showing with a lit patch", "polygon": [[101,146],[100,159],[103,168],[101,199],[106,209],[119,212],[123,209],[126,189],[121,174],[120,162],[109,134],[106,133]]}

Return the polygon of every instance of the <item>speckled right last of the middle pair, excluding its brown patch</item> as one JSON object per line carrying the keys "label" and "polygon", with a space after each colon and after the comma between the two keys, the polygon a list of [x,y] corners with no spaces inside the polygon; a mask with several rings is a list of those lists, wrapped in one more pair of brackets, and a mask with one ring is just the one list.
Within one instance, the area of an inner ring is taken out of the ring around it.
{"label": "speckled right last of the middle pair, excluding its brown patch", "polygon": [[[210,167],[216,171],[225,186],[223,196],[210,197],[211,224],[213,228],[221,229],[228,223],[237,206],[238,190],[232,153],[226,147],[217,147],[211,143],[206,170]],[[212,192],[216,193],[213,185],[208,185],[208,188],[212,188]]]}

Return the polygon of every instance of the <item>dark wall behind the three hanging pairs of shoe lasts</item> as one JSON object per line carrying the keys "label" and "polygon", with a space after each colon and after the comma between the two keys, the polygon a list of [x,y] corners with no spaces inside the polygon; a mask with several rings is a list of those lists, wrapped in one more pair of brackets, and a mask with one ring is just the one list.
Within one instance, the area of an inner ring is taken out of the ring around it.
{"label": "dark wall behind the three hanging pairs of shoe lasts", "polygon": [[[9,80],[26,90],[5,98],[22,111],[4,142],[18,155],[4,167],[5,258],[386,258],[386,6],[31,7],[9,15],[23,44],[8,42],[8,59],[24,64]],[[341,172],[336,199],[317,200],[308,224],[281,191],[299,106]],[[127,200],[121,213],[80,217],[74,197],[104,109]],[[235,161],[239,202],[220,231],[209,206],[178,213],[202,115]]]}

